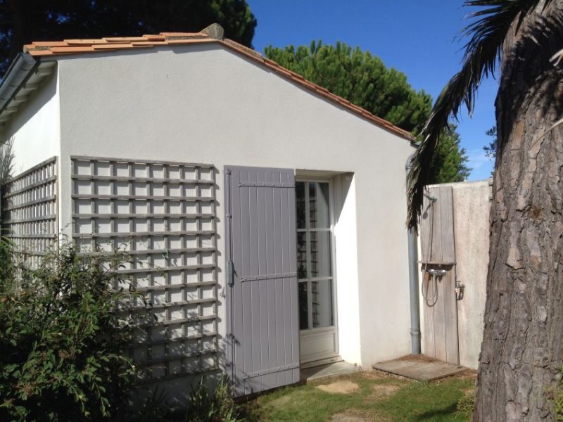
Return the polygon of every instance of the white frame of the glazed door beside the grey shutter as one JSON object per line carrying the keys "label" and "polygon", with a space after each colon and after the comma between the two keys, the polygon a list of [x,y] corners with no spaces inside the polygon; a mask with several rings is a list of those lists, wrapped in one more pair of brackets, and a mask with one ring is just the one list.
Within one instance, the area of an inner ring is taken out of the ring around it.
{"label": "white frame of the glazed door beside the grey shutter", "polygon": [[[301,368],[306,367],[306,366],[317,366],[318,365],[322,365],[325,363],[330,363],[330,362],[337,362],[339,360],[341,360],[340,357],[340,347],[339,347],[339,324],[338,324],[338,289],[337,289],[337,280],[336,280],[336,241],[334,238],[334,228],[336,226],[335,222],[336,222],[336,212],[334,209],[335,206],[335,200],[334,200],[334,181],[332,177],[329,176],[316,176],[316,175],[306,175],[306,174],[298,174],[298,172],[296,171],[296,175],[295,175],[295,181],[296,184],[298,182],[304,182],[304,181],[311,181],[311,182],[319,182],[319,183],[328,183],[329,184],[329,217],[330,217],[330,260],[331,260],[331,281],[332,281],[332,312],[333,312],[333,323],[334,323],[334,338],[336,341],[335,344],[335,352],[332,356],[330,357],[320,357],[319,359],[314,359],[314,360],[308,360],[307,362],[303,362],[301,360],[301,340],[303,336],[306,335],[319,335],[323,332],[327,332],[327,331],[333,331],[332,327],[333,326],[328,326],[328,327],[320,327],[320,328],[308,328],[307,330],[299,330],[299,362],[301,364]],[[297,212],[297,209],[296,209]],[[297,235],[298,232],[296,232]],[[296,254],[297,254],[297,250],[296,250]],[[299,279],[297,279],[297,282],[300,283]],[[308,333],[305,333],[305,335],[302,334],[303,331],[308,331]]]}

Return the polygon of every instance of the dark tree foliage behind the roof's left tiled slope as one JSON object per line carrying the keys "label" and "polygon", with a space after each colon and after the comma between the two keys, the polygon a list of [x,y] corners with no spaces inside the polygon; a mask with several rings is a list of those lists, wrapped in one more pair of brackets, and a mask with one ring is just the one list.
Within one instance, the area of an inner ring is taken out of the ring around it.
{"label": "dark tree foliage behind the roof's left tiled slope", "polygon": [[246,0],[0,0],[0,74],[31,41],[198,32],[212,23],[251,46]]}

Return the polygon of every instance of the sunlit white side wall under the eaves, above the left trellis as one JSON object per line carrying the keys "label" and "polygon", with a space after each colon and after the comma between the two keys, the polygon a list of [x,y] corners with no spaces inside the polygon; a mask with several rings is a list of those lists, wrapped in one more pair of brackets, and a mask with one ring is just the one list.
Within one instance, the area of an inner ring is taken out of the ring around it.
{"label": "sunlit white side wall under the eaves, above the left trellis", "polygon": [[13,175],[60,155],[61,131],[59,117],[57,70],[42,80],[41,88],[33,91],[27,102],[14,113],[3,140],[13,137],[15,164]]}

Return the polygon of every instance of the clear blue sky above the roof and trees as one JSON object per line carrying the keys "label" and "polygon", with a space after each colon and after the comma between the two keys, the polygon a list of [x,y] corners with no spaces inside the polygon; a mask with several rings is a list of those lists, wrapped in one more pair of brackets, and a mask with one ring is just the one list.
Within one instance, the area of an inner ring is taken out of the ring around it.
{"label": "clear blue sky above the roof and trees", "polygon": [[[258,19],[253,46],[309,45],[344,41],[379,56],[407,75],[415,89],[435,99],[448,79],[460,70],[464,43],[456,36],[467,26],[471,9],[462,0],[247,0]],[[495,124],[497,81],[481,85],[472,118],[462,113],[458,126],[467,151],[470,180],[490,177],[493,162],[483,145],[485,131]]]}

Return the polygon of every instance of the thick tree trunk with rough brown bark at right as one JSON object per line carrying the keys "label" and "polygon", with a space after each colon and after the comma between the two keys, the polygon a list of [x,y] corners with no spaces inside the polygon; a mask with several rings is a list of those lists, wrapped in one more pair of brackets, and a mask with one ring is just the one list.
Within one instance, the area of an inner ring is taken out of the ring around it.
{"label": "thick tree trunk with rough brown bark at right", "polygon": [[552,421],[563,366],[563,0],[512,27],[496,101],[485,331],[474,421]]}

